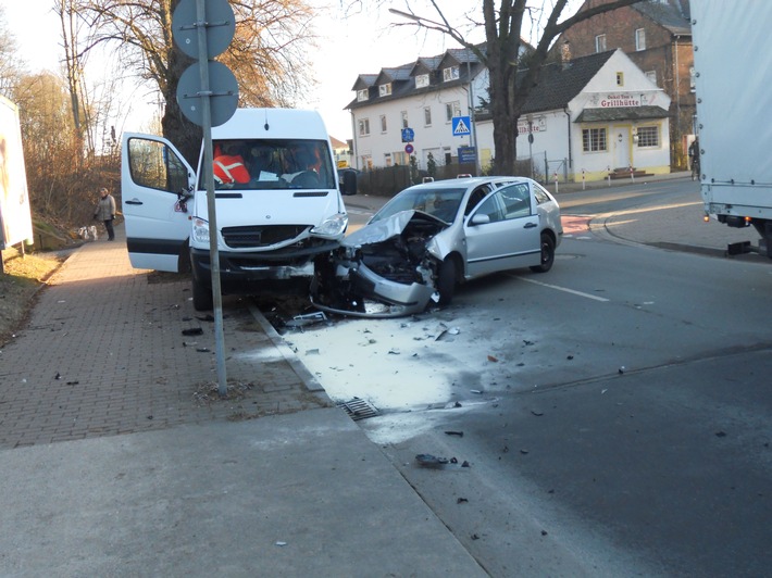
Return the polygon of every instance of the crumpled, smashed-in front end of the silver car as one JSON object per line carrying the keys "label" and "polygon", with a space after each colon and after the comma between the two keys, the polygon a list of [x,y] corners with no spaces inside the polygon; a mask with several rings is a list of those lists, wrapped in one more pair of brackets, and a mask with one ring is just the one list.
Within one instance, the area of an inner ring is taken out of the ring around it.
{"label": "crumpled, smashed-in front end of the silver car", "polygon": [[399,317],[437,301],[441,255],[435,237],[448,223],[421,211],[403,211],[346,237],[315,261],[311,301],[339,315]]}

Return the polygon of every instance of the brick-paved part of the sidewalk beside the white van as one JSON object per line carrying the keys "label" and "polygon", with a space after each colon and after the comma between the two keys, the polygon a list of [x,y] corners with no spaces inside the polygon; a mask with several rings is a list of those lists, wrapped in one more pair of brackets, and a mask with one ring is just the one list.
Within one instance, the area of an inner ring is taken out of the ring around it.
{"label": "brick-paved part of the sidewalk beside the white van", "polygon": [[0,448],[332,405],[238,298],[223,306],[229,399],[220,400],[214,323],[190,297],[186,276],[132,268],[122,226],[115,242],[76,250],[0,352]]}

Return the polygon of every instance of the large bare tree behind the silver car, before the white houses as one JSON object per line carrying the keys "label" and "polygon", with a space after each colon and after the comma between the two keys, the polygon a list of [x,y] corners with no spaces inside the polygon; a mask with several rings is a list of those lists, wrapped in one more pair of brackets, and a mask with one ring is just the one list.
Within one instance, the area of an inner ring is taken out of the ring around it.
{"label": "large bare tree behind the silver car, before the white houses", "polygon": [[[436,13],[436,16],[429,17],[436,17],[436,21],[415,15],[412,23],[404,25],[437,30],[450,36],[464,48],[472,50],[488,70],[488,96],[494,124],[494,172],[506,175],[514,173],[520,112],[532,89],[539,83],[541,68],[547,63],[549,48],[555,39],[582,21],[642,0],[585,2],[583,9],[563,21],[560,18],[569,0],[556,0],[551,9],[546,0],[499,0],[498,7],[494,0],[482,0],[483,22],[478,25],[485,27],[484,50],[468,41],[458,28],[450,25],[437,0],[429,1]],[[596,5],[593,5],[594,3]],[[533,50],[527,51],[525,58],[521,58],[524,24],[541,24],[544,16],[546,22],[540,26],[538,42]]]}

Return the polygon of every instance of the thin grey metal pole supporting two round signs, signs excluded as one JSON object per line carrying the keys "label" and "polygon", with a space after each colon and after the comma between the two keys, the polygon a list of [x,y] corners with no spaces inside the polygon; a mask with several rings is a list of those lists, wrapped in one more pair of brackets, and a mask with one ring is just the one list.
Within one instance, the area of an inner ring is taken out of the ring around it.
{"label": "thin grey metal pole supporting two round signs, signs excluded", "polygon": [[217,392],[227,395],[228,381],[225,373],[225,343],[223,337],[223,296],[220,285],[220,252],[217,251],[217,215],[214,204],[214,173],[212,163],[212,110],[209,97],[209,54],[207,51],[207,12],[204,0],[196,0],[196,26],[198,32],[198,65],[201,74],[201,117],[203,120],[203,169],[207,181],[207,211],[209,212],[209,254],[212,265],[212,299],[214,303],[214,351],[217,363]]}

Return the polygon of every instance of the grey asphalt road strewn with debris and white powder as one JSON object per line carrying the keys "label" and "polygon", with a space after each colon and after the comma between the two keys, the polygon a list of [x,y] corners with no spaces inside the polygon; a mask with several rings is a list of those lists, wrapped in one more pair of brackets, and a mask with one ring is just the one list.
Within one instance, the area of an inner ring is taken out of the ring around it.
{"label": "grey asphalt road strewn with debris and white powder", "polygon": [[[562,206],[693,198],[674,187]],[[611,239],[575,231],[549,274],[446,310],[285,339],[333,399],[381,411],[359,423],[491,576],[767,575],[772,269]]]}

